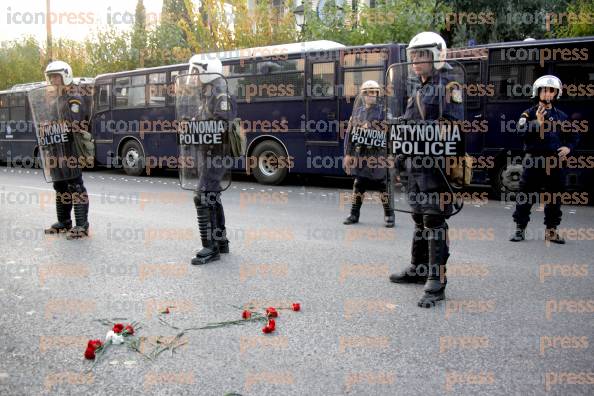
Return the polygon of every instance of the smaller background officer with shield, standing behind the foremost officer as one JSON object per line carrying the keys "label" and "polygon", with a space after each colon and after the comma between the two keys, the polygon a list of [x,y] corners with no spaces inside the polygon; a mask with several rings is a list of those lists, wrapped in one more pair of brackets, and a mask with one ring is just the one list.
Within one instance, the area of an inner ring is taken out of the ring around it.
{"label": "smaller background officer with shield, standing behind the foremost officer", "polygon": [[[368,80],[361,85],[360,94],[353,105],[353,113],[344,140],[343,167],[348,175],[355,176],[355,180],[351,214],[343,224],[359,222],[365,192],[374,183],[378,183],[384,207],[385,226],[394,227],[392,194],[387,183],[387,165],[385,161],[383,164],[380,162],[382,157],[384,160],[387,159],[386,132],[382,127],[384,105],[381,99],[381,89],[377,81]],[[365,130],[367,136],[356,133],[360,130]]]}

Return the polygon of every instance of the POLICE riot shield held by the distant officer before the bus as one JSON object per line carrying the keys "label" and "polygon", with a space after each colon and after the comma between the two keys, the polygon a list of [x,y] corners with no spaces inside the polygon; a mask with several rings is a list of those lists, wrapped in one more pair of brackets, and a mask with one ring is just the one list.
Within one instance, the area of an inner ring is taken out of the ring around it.
{"label": "POLICE riot shield held by the distant officer before the bus", "polygon": [[385,180],[388,169],[383,95],[357,96],[345,135],[345,168],[351,176]]}

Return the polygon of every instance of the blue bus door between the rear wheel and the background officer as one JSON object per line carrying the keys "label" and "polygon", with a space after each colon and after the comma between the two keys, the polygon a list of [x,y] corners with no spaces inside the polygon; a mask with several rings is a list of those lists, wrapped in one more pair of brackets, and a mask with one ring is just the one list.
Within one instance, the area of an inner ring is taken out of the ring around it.
{"label": "blue bus door between the rear wheel and the background officer", "polygon": [[317,162],[322,161],[324,173],[329,171],[328,166],[336,168],[337,172],[342,170],[341,164],[334,166],[326,162],[334,159],[341,150],[336,68],[337,61],[333,58],[308,58],[305,150],[308,158],[314,160],[317,157]]}

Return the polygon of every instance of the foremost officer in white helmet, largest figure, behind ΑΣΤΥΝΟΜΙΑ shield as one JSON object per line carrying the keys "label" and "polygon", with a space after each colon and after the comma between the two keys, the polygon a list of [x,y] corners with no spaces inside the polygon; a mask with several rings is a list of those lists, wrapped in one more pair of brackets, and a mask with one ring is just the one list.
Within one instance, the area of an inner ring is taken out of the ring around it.
{"label": "foremost officer in white helmet, largest figure, behind \u0391\u03a3\u03a4\u03a5\u039d\u039f\u039c\u0399\u0391 shield", "polygon": [[[414,85],[403,91],[404,122],[443,122],[461,120],[464,107],[460,81],[446,59],[446,43],[433,32],[419,33],[407,48],[403,75],[394,77],[396,83],[412,80]],[[407,71],[408,70],[408,71]],[[463,83],[463,82],[462,82]],[[397,115],[397,114],[395,114]],[[445,298],[445,265],[449,257],[448,225],[452,214],[452,200],[442,202],[443,194],[451,192],[443,169],[437,161],[425,166],[420,155],[399,156],[402,174],[406,176],[408,204],[415,224],[411,263],[403,271],[390,275],[395,283],[425,283],[424,295],[418,306],[429,308]],[[421,166],[420,164],[423,163]]]}

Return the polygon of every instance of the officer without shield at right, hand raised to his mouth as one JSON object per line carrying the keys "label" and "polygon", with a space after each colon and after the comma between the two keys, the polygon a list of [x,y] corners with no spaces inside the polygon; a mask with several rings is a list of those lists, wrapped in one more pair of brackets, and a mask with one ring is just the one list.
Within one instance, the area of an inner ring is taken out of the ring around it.
{"label": "officer without shield at right, hand raised to his mouth", "polygon": [[518,121],[517,130],[524,137],[526,156],[513,214],[516,231],[510,238],[512,242],[526,238],[525,230],[535,201],[533,193],[544,187],[551,194],[544,209],[545,240],[565,243],[557,233],[557,226],[561,223],[561,203],[553,195],[564,190],[563,169],[561,166],[553,166],[548,172],[546,169],[547,158],[556,158],[551,163],[559,165],[578,143],[577,133],[561,133],[559,122],[567,121],[568,117],[554,103],[562,92],[563,85],[559,78],[552,75],[538,78],[532,85],[532,98],[537,104],[525,110]]}

